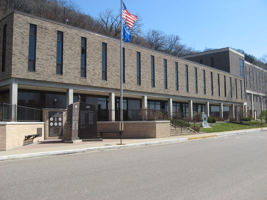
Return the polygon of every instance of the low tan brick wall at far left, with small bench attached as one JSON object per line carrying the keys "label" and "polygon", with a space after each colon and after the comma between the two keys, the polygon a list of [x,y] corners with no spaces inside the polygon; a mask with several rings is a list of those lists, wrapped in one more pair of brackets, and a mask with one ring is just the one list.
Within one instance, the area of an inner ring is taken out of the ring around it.
{"label": "low tan brick wall at far left, with small bench attached", "polygon": [[[38,129],[39,128],[39,129]],[[42,133],[25,141],[25,135]],[[44,122],[0,122],[0,151],[14,149],[44,139]]]}

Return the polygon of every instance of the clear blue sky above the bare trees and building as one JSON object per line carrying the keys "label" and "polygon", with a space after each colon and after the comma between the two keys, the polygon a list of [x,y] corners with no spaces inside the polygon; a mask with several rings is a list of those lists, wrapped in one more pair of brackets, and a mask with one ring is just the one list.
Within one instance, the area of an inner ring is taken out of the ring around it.
{"label": "clear blue sky above the bare trees and building", "polygon": [[[97,17],[105,9],[117,13],[120,0],[72,0],[81,12]],[[267,0],[124,0],[138,15],[142,30],[179,35],[196,50],[232,47],[259,58],[267,54]]]}

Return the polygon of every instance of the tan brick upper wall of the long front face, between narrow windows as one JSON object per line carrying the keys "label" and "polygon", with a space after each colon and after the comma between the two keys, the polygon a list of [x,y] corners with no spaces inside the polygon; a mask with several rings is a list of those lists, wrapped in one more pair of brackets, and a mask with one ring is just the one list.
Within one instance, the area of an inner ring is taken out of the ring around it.
{"label": "tan brick upper wall of the long front face, between narrow windows", "polygon": [[[102,88],[120,88],[120,42],[116,39],[76,29],[65,24],[14,14],[13,69],[12,77],[35,79],[41,81],[72,83]],[[37,25],[36,72],[28,71],[29,23]],[[56,75],[57,30],[64,32],[63,75]],[[87,78],[80,78],[81,37],[87,38]],[[102,42],[107,43],[107,81],[102,81]],[[125,47],[125,84],[124,90],[169,94],[183,97],[196,97],[230,102],[244,102],[230,98],[229,86],[227,97],[218,97],[217,73],[220,74],[221,93],[223,93],[223,75],[232,79],[242,78],[205,67],[177,57],[145,49],[140,46],[124,43]],[[136,51],[141,52],[141,85],[136,83]],[[155,56],[155,88],[151,87],[151,55]],[[167,59],[168,89],[164,89],[163,59]],[[179,91],[175,90],[175,62],[178,62]],[[185,88],[185,65],[189,68],[189,92]],[[194,67],[198,69],[199,92],[195,93]],[[206,95],[203,95],[203,73],[206,70]],[[213,72],[214,95],[211,95],[210,72]],[[75,80],[75,82],[74,82]],[[235,87],[234,87],[235,90]]]}

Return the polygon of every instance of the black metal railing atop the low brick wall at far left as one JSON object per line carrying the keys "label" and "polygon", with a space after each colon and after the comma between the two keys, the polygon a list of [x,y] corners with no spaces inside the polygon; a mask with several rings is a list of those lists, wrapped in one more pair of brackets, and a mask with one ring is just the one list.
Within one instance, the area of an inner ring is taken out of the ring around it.
{"label": "black metal railing atop the low brick wall at far left", "polygon": [[23,121],[23,122],[41,122],[42,110],[30,108],[27,106],[17,106],[1,102],[0,121]]}

